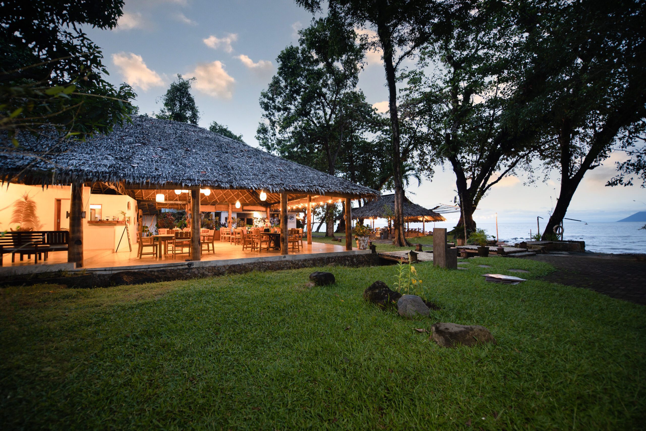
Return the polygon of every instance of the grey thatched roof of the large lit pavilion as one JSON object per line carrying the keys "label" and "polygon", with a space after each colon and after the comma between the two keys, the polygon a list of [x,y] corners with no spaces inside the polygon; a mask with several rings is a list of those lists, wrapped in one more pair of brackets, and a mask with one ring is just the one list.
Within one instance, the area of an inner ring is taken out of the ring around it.
{"label": "grey thatched roof of the large lit pavilion", "polygon": [[[21,136],[24,152],[0,151],[0,178],[28,184],[107,182],[166,187],[255,189],[267,193],[377,195],[379,192],[186,123],[133,116],[87,142]],[[19,178],[14,178],[19,174]]]}

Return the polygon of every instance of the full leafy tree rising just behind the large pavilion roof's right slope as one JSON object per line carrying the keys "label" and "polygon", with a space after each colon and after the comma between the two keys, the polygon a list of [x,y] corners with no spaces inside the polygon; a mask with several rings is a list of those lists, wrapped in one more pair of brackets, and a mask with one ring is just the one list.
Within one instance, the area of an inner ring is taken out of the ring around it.
{"label": "full leafy tree rising just behind the large pavilion roof's right slope", "polygon": [[[256,138],[262,147],[337,174],[340,154],[360,141],[374,115],[356,88],[364,57],[356,40],[353,28],[330,14],[300,31],[298,47],[280,52],[278,71],[260,96],[264,121]],[[353,154],[348,165],[354,165]],[[334,219],[333,206],[328,205],[328,220]],[[327,225],[326,235],[333,237],[334,223]]]}

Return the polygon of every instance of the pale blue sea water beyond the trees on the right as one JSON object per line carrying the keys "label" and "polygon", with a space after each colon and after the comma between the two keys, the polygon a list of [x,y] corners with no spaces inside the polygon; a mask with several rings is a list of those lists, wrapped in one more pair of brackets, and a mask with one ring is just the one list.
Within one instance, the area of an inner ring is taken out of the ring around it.
{"label": "pale blue sea water beyond the trees on the right", "polygon": [[[426,224],[426,229],[429,228]],[[435,227],[452,229],[455,224],[435,223]],[[495,223],[478,223],[488,235],[495,235]],[[571,222],[563,223],[563,239],[583,240],[587,251],[597,253],[646,253],[646,230],[640,230],[643,222]],[[413,224],[411,224],[413,227]],[[417,227],[415,224],[414,227]],[[420,226],[421,227],[421,224]],[[545,223],[541,220],[541,233]],[[530,230],[536,233],[536,223],[498,223],[498,235],[501,241],[520,242],[529,240]]]}

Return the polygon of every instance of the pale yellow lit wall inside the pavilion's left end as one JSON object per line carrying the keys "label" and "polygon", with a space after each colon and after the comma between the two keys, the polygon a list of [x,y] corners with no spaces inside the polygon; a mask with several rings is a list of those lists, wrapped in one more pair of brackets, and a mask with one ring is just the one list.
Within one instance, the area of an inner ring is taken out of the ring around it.
{"label": "pale yellow lit wall inside the pavilion's left end", "polygon": [[[5,231],[10,228],[16,229],[16,226],[10,224],[12,213],[14,211],[14,202],[19,200],[23,194],[28,193],[30,198],[36,202],[36,211],[38,213],[39,224],[34,230],[53,231],[55,229],[54,217],[56,215],[56,199],[69,199],[71,188],[69,185],[50,186],[45,189],[37,185],[7,184],[2,185],[0,189],[0,230]],[[130,202],[130,209],[127,209]],[[136,247],[136,200],[129,196],[121,194],[90,194],[89,187],[83,187],[83,211],[86,212],[86,218],[83,219],[83,244],[84,249],[113,249],[116,247],[118,236],[123,231],[123,225],[118,226],[91,226],[87,222],[90,219],[90,205],[101,204],[103,218],[118,216],[123,218],[119,211],[123,210],[130,216],[130,242],[132,247]],[[61,215],[65,218],[65,211]],[[65,223],[61,221],[64,225]],[[125,237],[124,237],[125,238]],[[120,251],[127,242],[122,242]]]}

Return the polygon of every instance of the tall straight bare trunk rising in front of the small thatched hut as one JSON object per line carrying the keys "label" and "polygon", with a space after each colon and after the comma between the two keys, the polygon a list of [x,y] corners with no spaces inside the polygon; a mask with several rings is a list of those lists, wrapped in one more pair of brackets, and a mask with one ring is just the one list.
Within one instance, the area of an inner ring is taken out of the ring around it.
{"label": "tall straight bare trunk rising in front of the small thatched hut", "polygon": [[397,79],[395,65],[393,64],[393,47],[391,35],[386,28],[378,28],[382,47],[384,48],[384,68],[388,82],[388,110],[390,112],[390,126],[393,134],[393,182],[395,182],[395,214],[393,225],[395,227],[393,244],[395,246],[410,246],[404,235],[404,185],[401,172],[401,143],[399,136],[399,114],[397,112]]}

